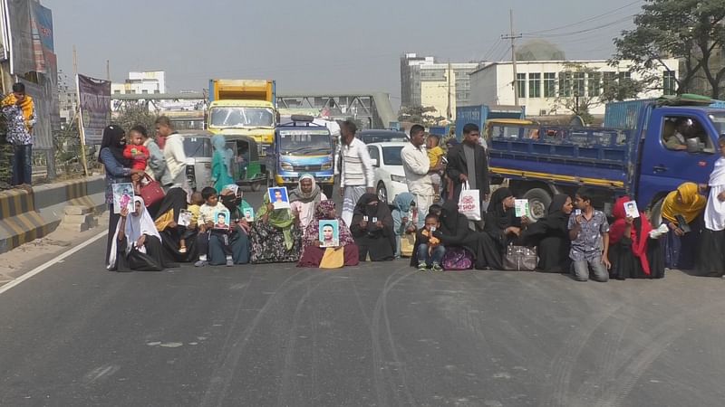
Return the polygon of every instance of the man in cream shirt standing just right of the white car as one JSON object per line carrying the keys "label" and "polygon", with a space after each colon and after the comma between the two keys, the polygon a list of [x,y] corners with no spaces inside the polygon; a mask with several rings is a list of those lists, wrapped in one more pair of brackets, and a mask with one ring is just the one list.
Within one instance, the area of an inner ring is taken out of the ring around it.
{"label": "man in cream shirt standing just right of the white car", "polygon": [[408,192],[415,197],[418,208],[418,227],[425,223],[428,208],[433,204],[433,181],[430,179],[431,171],[438,171],[438,166],[430,167],[430,158],[425,148],[425,128],[420,125],[411,127],[411,142],[401,149],[402,169],[408,184]]}

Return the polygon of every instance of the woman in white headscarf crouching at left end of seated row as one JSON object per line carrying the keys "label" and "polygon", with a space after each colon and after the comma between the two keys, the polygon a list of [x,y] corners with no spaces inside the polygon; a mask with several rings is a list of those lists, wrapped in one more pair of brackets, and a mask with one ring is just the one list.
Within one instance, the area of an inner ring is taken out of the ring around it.
{"label": "woman in white headscarf crouching at left end of seated row", "polygon": [[160,271],[175,264],[166,260],[161,236],[151,219],[143,198],[133,197],[135,211],[121,209],[116,232],[112,236],[109,270]]}

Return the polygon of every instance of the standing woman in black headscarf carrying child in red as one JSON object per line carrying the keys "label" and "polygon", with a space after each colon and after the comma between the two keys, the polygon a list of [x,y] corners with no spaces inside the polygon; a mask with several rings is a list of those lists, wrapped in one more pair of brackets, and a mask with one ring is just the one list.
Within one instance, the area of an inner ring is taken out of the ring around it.
{"label": "standing woman in black headscarf carrying child in red", "polygon": [[131,174],[143,173],[142,170],[131,169],[131,160],[123,156],[123,148],[126,147],[125,135],[120,126],[111,125],[103,128],[101,151],[98,154],[98,161],[106,170],[106,204],[109,213],[106,259],[111,254],[113,235],[116,234],[116,226],[121,219],[121,215],[113,208],[113,184],[131,183]]}

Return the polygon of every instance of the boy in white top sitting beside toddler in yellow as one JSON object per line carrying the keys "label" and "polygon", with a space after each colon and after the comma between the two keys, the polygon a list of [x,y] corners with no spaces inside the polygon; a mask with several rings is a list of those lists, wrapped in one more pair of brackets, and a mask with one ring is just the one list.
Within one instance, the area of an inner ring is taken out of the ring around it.
{"label": "boy in white top sitting beside toddler in yellow", "polygon": [[208,265],[208,250],[209,250],[209,239],[211,236],[217,236],[221,242],[222,250],[227,257],[227,266],[234,266],[234,260],[232,259],[232,249],[229,245],[229,232],[225,230],[214,229],[214,224],[217,223],[217,219],[214,214],[221,210],[226,209],[223,204],[218,201],[217,190],[211,186],[207,186],[201,190],[201,197],[204,199],[205,204],[201,205],[198,210],[198,261],[194,263],[197,267],[204,267]]}

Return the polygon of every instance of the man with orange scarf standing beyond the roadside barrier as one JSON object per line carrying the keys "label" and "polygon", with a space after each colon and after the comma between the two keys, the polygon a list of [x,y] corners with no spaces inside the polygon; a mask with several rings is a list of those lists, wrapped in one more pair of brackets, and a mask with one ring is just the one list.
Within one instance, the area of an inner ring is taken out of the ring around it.
{"label": "man with orange scarf standing beyond the roadside barrier", "polygon": [[33,126],[35,104],[33,98],[25,95],[25,85],[13,84],[13,93],[2,102],[3,115],[7,123],[7,142],[13,145],[11,168],[12,184],[30,187],[33,168]]}

